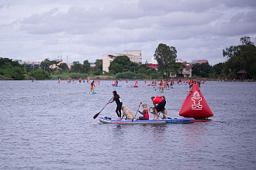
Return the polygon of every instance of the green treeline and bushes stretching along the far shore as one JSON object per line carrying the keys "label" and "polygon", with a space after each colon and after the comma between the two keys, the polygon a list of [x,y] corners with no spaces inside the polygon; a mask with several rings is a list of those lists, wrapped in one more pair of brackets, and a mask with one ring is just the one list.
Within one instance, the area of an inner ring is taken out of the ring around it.
{"label": "green treeline and bushes stretching along the far shore", "polygon": [[[210,79],[230,79],[237,78],[237,72],[243,70],[243,77],[248,79],[256,78],[256,47],[251,42],[250,37],[245,36],[240,39],[239,46],[230,46],[223,49],[223,57],[227,57],[227,62],[217,63],[210,66],[209,63],[196,63],[192,68],[191,78]],[[177,50],[174,46],[159,44],[154,53],[157,60],[157,70],[147,66],[147,63],[133,63],[128,56],[117,56],[109,66],[109,73],[102,73],[102,59],[96,59],[95,66],[90,66],[86,59],[83,63],[74,61],[71,69],[66,63],[44,59],[40,63],[40,68],[26,64],[20,65],[9,58],[0,58],[0,80],[47,80],[47,79],[67,79],[69,77],[78,79],[108,76],[116,79],[167,79],[170,73],[179,75],[184,65],[175,63]],[[182,78],[182,77],[176,77]]]}

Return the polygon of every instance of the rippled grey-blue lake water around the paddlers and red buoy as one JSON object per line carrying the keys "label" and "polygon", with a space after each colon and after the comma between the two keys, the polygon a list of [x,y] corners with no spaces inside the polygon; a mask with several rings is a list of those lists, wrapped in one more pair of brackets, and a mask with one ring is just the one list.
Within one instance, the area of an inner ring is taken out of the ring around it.
{"label": "rippled grey-blue lake water around the paddlers and red buoy", "polygon": [[[101,84],[88,94],[90,84],[78,81],[0,81],[0,169],[256,169],[256,83],[206,82],[200,89],[211,120],[164,125],[92,117],[112,90],[133,114],[140,101],[152,107],[150,97],[164,94],[168,117],[179,117],[188,85],[159,93],[144,81]],[[109,104],[99,117],[116,118],[115,110]]]}

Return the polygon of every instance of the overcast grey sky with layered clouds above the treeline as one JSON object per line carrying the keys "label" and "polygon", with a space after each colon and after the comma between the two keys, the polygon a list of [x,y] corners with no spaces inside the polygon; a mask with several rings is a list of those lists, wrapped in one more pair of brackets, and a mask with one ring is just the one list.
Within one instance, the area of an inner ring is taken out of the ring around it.
{"label": "overcast grey sky with layered clouds above the treeline", "polygon": [[223,49],[256,42],[255,0],[1,0],[0,57],[72,63],[141,50],[150,63],[159,43],[178,59],[227,60]]}

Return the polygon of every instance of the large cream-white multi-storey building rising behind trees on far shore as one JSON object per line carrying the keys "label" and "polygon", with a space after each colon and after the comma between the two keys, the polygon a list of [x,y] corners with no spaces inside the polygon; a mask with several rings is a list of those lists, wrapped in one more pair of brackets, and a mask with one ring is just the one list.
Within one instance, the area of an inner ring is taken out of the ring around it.
{"label": "large cream-white multi-storey building rising behind trees on far shore", "polygon": [[128,56],[130,58],[130,61],[134,63],[141,63],[142,62],[142,56],[141,51],[124,51],[123,54],[118,53],[108,53],[103,55],[102,59],[102,70],[109,73],[109,66],[112,60],[116,59],[116,56]]}

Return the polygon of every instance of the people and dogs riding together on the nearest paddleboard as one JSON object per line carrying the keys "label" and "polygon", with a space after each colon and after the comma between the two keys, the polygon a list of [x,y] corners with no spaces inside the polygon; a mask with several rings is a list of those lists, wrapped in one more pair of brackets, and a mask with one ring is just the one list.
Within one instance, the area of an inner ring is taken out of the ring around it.
{"label": "people and dogs riding together on the nearest paddleboard", "polygon": [[[121,113],[121,110],[122,110],[122,106],[123,106],[123,102],[121,100],[121,98],[119,97],[119,94],[116,93],[116,90],[112,91],[112,100],[109,100],[108,104],[109,103],[112,103],[114,101],[116,101],[116,114],[117,114],[117,120],[121,120],[122,119],[122,113]],[[166,100],[165,100],[165,97],[164,95],[163,96],[157,96],[157,97],[151,97],[151,100],[152,100],[152,103],[154,104],[154,107],[153,107],[153,113],[154,116],[156,116],[156,120],[159,120],[159,115],[158,113],[161,111],[161,110],[165,110],[165,104],[166,104]],[[142,104],[142,107],[143,107],[143,111],[141,112],[139,110],[139,108],[137,109],[137,111],[142,114],[143,116],[142,117],[138,117],[136,120],[149,120],[149,110],[147,108],[147,103],[144,102],[140,102],[140,104]],[[127,113],[124,113],[124,110],[123,110],[123,114],[130,114],[129,111],[127,111]],[[129,117],[129,116],[127,116]],[[134,116],[132,116],[132,119],[134,120]],[[166,118],[166,115],[165,115],[165,118]]]}

